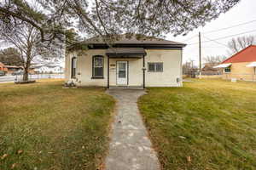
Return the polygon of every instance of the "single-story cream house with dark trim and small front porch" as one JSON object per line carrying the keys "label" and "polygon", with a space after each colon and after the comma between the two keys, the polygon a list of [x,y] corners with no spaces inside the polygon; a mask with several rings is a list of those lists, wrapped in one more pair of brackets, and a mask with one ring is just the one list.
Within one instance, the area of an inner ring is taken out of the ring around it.
{"label": "single-story cream house with dark trim and small front porch", "polygon": [[91,38],[68,48],[65,78],[77,86],[181,87],[183,47],[179,42],[122,35],[109,48]]}

